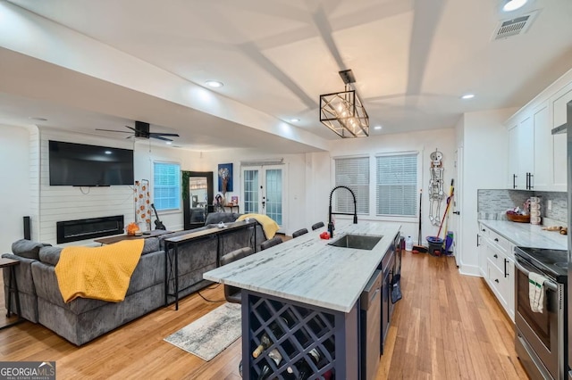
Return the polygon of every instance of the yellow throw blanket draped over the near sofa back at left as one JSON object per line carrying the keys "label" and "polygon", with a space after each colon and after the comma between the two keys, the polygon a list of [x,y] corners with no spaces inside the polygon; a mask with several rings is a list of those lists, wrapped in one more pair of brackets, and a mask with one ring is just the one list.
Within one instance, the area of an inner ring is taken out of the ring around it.
{"label": "yellow throw blanket draped over the near sofa back at left", "polygon": [[78,297],[122,302],[143,244],[144,239],[136,239],[102,247],[63,248],[55,266],[63,302]]}

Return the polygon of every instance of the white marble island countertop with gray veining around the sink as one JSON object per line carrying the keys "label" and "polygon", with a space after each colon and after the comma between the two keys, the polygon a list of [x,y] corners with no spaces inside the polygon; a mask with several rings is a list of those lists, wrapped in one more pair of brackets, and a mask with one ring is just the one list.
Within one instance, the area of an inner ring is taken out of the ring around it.
{"label": "white marble island countertop with gray veining around the sink", "polygon": [[[207,280],[257,293],[349,312],[400,231],[394,223],[363,221],[336,226],[332,240],[320,239],[325,227],[242,260],[206,272]],[[328,245],[341,235],[383,235],[371,251]]]}

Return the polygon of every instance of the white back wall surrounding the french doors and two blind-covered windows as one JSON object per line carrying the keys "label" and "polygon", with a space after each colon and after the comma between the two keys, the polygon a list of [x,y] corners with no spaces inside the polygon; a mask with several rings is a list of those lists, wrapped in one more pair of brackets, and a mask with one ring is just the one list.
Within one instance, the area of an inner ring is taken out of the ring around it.
{"label": "white back wall surrounding the french doors and two blind-covered windows", "polygon": [[[200,167],[200,170],[213,170],[216,173],[219,163],[232,162],[234,169],[233,192],[227,194],[238,194],[241,191],[240,161],[257,159],[283,158],[288,171],[287,191],[287,214],[288,227],[285,233],[309,227],[317,221],[327,223],[328,201],[333,186],[332,178],[332,158],[347,155],[363,155],[375,153],[393,153],[406,151],[419,151],[422,155],[423,164],[419,168],[421,172],[421,186],[424,189],[422,227],[422,244],[426,244],[425,236],[437,235],[439,226],[433,226],[429,222],[429,203],[427,188],[429,186],[429,154],[435,149],[443,153],[443,165],[445,167],[445,192],[449,193],[450,179],[456,175],[454,168],[455,157],[455,130],[439,129],[432,131],[411,132],[395,135],[371,136],[367,138],[334,140],[330,145],[330,152],[290,154],[280,156],[261,155],[248,150],[227,150],[215,153],[205,153],[203,161],[208,162]],[[193,168],[198,170],[199,168]],[[215,175],[216,178],[216,175]],[[374,178],[372,178],[374,180]],[[216,180],[214,191],[217,191]],[[240,196],[240,202],[242,197]],[[444,212],[445,201],[442,201],[441,214]],[[358,219],[381,219],[376,217]],[[339,217],[338,222],[344,222],[343,217]],[[388,219],[384,219],[388,220]],[[392,220],[392,219],[389,219]],[[418,219],[400,218],[403,235],[411,235],[414,241],[417,239]],[[442,232],[443,235],[443,232]]]}

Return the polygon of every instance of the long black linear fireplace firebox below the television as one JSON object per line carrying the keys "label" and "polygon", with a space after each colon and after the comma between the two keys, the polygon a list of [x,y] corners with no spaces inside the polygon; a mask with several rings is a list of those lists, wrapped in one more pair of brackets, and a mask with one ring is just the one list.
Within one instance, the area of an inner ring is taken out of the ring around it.
{"label": "long black linear fireplace firebox below the television", "polygon": [[57,243],[70,243],[123,233],[123,215],[56,222]]}

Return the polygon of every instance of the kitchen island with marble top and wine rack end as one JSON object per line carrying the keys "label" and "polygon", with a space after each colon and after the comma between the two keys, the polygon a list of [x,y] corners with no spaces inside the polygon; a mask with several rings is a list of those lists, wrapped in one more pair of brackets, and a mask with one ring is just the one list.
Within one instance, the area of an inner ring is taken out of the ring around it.
{"label": "kitchen island with marble top and wine rack end", "polygon": [[[309,367],[314,375],[359,377],[359,297],[370,277],[393,252],[399,224],[365,221],[336,227],[332,240],[324,228],[257,252],[204,274],[207,280],[242,288],[244,378],[261,371],[289,378]],[[372,250],[336,247],[343,235],[377,235]],[[251,352],[262,336],[272,341],[256,359]],[[317,351],[319,359],[310,353]],[[273,355],[269,355],[269,353]],[[276,362],[275,353],[281,360]],[[270,378],[273,378],[271,376]]]}

